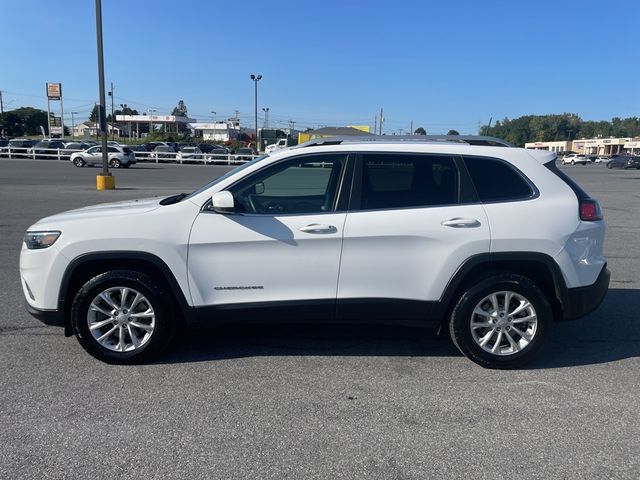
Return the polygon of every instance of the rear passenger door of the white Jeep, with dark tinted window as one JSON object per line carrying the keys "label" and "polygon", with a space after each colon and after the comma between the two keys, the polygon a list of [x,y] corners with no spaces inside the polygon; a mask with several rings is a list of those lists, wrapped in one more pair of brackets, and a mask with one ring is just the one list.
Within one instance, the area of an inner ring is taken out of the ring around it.
{"label": "rear passenger door of the white Jeep, with dark tinted window", "polygon": [[457,268],[489,251],[487,217],[459,166],[450,156],[358,157],[339,316],[426,320]]}

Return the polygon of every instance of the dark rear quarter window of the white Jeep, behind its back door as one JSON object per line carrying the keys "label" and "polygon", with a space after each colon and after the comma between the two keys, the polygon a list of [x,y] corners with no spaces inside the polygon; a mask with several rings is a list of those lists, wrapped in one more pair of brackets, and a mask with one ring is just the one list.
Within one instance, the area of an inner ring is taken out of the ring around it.
{"label": "dark rear quarter window of the white Jeep, behind its back door", "polygon": [[495,158],[465,157],[481,202],[526,200],[535,195],[531,184],[507,162]]}

